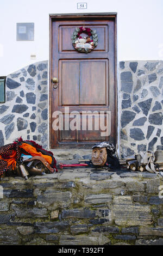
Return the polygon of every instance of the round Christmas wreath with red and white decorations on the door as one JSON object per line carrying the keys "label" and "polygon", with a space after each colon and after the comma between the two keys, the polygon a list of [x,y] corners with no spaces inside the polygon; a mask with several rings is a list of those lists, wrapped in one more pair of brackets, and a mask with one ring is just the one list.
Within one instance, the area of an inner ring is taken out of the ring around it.
{"label": "round Christmas wreath with red and white decorations on the door", "polygon": [[[85,33],[87,36],[80,36]],[[91,52],[98,44],[98,35],[91,28],[76,28],[72,35],[72,44],[78,52]]]}

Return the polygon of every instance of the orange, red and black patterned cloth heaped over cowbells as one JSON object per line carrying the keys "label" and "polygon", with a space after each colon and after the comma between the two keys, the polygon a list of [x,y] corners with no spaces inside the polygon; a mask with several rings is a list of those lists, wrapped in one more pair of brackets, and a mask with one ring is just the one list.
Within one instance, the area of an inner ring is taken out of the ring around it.
{"label": "orange, red and black patterned cloth heaped over cowbells", "polygon": [[9,171],[14,171],[16,164],[20,164],[21,154],[42,156],[57,172],[56,160],[51,151],[42,149],[42,146],[33,141],[23,141],[18,138],[14,143],[0,147],[0,176]]}

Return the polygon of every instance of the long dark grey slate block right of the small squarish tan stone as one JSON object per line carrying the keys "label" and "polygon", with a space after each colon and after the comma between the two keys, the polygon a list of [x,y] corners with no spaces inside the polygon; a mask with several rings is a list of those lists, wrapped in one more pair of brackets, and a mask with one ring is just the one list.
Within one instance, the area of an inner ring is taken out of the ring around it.
{"label": "long dark grey slate block right of the small squarish tan stone", "polygon": [[96,211],[89,209],[62,210],[62,218],[95,218]]}

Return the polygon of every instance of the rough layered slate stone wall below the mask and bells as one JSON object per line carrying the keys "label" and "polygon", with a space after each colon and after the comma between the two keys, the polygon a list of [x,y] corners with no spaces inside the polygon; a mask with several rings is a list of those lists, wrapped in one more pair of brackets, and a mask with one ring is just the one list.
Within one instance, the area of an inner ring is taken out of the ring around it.
{"label": "rough layered slate stone wall below the mask and bells", "polygon": [[1,245],[163,245],[159,174],[80,168],[0,185]]}

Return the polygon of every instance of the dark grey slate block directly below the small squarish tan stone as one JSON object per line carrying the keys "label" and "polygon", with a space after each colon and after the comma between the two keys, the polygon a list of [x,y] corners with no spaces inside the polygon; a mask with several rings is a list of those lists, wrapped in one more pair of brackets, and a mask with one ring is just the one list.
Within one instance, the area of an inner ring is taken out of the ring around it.
{"label": "dark grey slate block directly below the small squarish tan stone", "polygon": [[54,221],[54,222],[36,222],[34,223],[35,233],[59,233],[61,231],[68,231],[70,223],[68,221]]}

